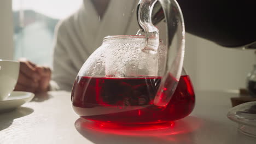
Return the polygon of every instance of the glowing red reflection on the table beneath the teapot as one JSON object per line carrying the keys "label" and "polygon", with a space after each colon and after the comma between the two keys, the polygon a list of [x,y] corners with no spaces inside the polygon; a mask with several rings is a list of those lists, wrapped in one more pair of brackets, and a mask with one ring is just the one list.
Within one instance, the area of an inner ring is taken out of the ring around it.
{"label": "glowing red reflection on the table beneath the teapot", "polygon": [[98,131],[105,134],[129,135],[129,136],[165,136],[190,133],[200,128],[202,120],[193,116],[188,116],[179,121],[166,122],[159,124],[142,124],[142,125],[120,125],[113,123],[102,123],[88,121],[79,118],[75,122],[75,128],[81,131]]}

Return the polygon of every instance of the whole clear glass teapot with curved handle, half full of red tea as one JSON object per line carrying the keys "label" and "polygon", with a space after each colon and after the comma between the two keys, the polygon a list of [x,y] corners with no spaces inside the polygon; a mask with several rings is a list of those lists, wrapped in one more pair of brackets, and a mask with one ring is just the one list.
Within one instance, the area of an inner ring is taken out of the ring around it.
{"label": "whole clear glass teapot with curved handle, half full of red tea", "polygon": [[194,109],[195,95],[183,69],[184,22],[174,0],[159,0],[167,45],[152,24],[156,0],[142,0],[138,21],[145,35],[114,35],[86,60],[72,89],[73,110],[91,121],[148,124],[174,121]]}

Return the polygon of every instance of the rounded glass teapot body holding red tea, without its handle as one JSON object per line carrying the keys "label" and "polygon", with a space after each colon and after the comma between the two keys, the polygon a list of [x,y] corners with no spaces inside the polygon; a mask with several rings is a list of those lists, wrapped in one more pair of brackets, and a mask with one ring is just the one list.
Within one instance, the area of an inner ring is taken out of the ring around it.
{"label": "rounded glass teapot body holding red tea, without its handle", "polygon": [[[154,99],[162,81],[166,46],[158,52],[141,51],[144,36],[107,37],[80,69],[72,90],[73,110],[91,121],[119,124],[148,124],[175,121],[194,109],[195,94],[189,76],[182,74],[170,102],[157,106]],[[171,91],[168,75],[161,98]],[[167,93],[165,93],[167,92]]]}

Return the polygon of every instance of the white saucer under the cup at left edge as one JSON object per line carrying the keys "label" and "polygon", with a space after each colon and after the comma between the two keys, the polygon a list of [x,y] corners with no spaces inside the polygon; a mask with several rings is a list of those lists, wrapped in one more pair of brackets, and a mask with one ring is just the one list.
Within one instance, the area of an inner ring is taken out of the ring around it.
{"label": "white saucer under the cup at left edge", "polygon": [[21,106],[34,97],[30,92],[12,92],[6,100],[0,100],[0,112],[7,112],[14,110],[16,107]]}

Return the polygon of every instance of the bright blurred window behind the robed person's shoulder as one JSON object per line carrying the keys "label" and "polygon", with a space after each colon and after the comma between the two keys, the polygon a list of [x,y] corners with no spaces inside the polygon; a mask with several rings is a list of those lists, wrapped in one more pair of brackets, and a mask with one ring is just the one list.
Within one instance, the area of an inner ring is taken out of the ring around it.
{"label": "bright blurred window behind the robed person's shoulder", "polygon": [[51,67],[57,22],[74,13],[83,0],[12,0],[14,58]]}

